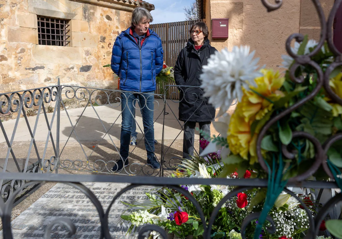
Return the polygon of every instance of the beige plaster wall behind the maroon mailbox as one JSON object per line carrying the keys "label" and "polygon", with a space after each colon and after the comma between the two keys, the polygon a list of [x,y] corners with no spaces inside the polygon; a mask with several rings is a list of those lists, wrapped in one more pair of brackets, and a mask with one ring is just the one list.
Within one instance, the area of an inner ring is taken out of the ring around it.
{"label": "beige plaster wall behind the maroon mailbox", "polygon": [[211,0],[211,18],[229,18],[229,38],[211,39],[211,44],[218,50],[249,45],[260,57],[260,65],[278,69],[281,54],[286,53],[286,39],[299,32],[300,9],[300,0],[284,1],[280,9],[270,13],[259,0]]}

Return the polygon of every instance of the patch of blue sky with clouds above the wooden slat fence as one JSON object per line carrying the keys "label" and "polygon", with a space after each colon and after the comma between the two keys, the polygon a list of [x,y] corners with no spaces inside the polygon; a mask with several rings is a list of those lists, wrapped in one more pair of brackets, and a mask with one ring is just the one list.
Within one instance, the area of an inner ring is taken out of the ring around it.
{"label": "patch of blue sky with clouds above the wooden slat fence", "polygon": [[193,0],[145,0],[154,4],[155,10],[151,11],[153,23],[170,23],[185,21],[183,8],[190,6]]}

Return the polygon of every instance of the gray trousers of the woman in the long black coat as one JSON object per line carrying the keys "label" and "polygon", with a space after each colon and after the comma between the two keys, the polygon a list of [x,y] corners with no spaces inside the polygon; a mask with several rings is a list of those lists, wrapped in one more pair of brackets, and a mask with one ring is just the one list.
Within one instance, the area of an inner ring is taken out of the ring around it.
{"label": "gray trousers of the woman in the long black coat", "polygon": [[[199,122],[199,129],[210,135],[211,122]],[[184,124],[184,137],[183,137],[183,158],[190,159],[194,156],[194,139],[195,139],[195,126],[196,122],[186,122]],[[204,138],[201,134],[199,138]],[[202,148],[199,147],[199,153],[202,153]]]}

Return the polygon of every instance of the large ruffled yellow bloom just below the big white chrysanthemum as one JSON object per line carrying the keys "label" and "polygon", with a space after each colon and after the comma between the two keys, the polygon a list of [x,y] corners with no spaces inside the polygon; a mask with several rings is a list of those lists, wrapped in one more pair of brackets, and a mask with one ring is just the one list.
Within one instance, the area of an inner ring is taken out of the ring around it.
{"label": "large ruffled yellow bloom just below the big white chrysanthemum", "polygon": [[284,96],[279,88],[285,79],[280,77],[279,72],[262,69],[261,73],[263,76],[255,79],[257,87],[244,89],[244,95],[231,116],[227,131],[229,149],[246,160],[250,156],[250,164],[257,160],[256,144],[260,130],[256,129],[252,137],[251,125],[272,110],[272,102]]}

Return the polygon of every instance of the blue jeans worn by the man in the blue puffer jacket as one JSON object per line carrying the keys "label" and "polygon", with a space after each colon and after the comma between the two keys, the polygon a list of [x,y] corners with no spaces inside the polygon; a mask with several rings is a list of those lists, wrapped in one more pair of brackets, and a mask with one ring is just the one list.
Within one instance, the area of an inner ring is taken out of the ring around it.
{"label": "blue jeans worn by the man in the blue puffer jacket", "polygon": [[120,136],[120,155],[125,160],[129,154],[129,143],[131,140],[131,127],[133,119],[133,112],[135,115],[134,104],[136,101],[140,102],[144,135],[145,135],[145,148],[147,158],[154,156],[154,128],[153,128],[153,110],[154,110],[154,92],[147,93],[134,93],[122,92],[121,93],[121,136]]}

